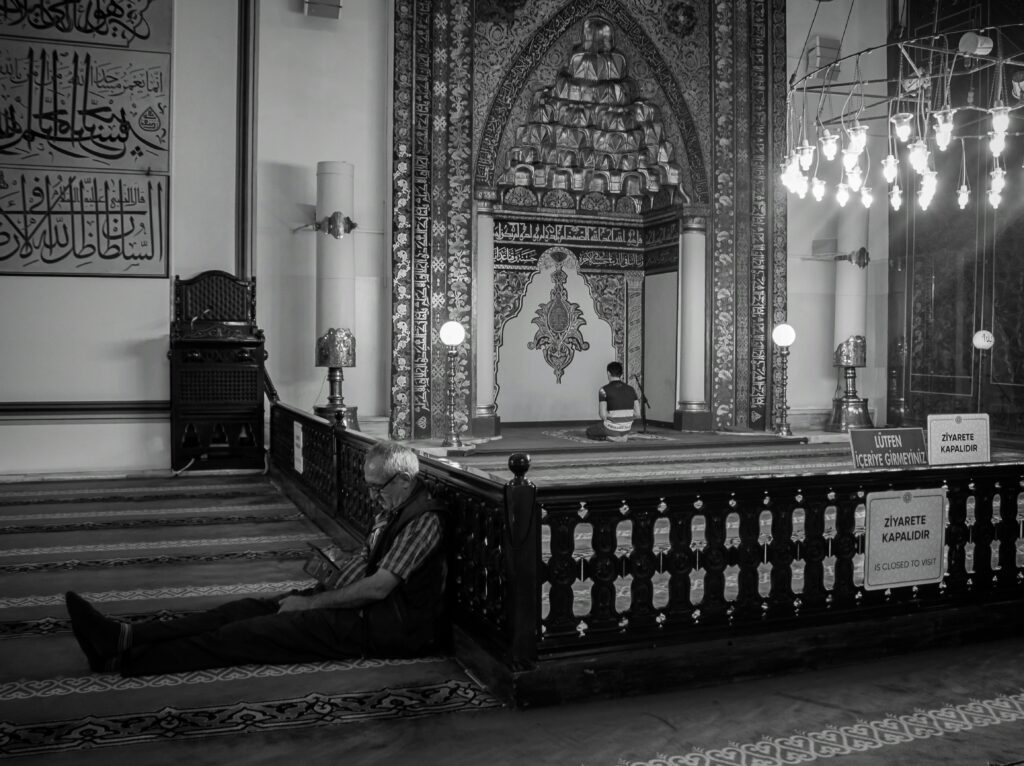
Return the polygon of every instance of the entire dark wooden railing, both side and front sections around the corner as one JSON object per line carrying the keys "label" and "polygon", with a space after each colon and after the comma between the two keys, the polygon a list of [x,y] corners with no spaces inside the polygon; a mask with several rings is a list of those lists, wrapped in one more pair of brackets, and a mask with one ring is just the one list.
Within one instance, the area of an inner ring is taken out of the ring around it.
{"label": "entire dark wooden railing, both side and front sections around the corner", "polygon": [[[374,439],[283,405],[271,423],[275,470],[365,535]],[[513,673],[594,652],[1024,607],[1020,463],[538,488],[524,455],[510,459],[508,482],[420,460],[449,508],[452,621]],[[866,495],[929,487],[948,498],[943,581],[865,590]]]}

